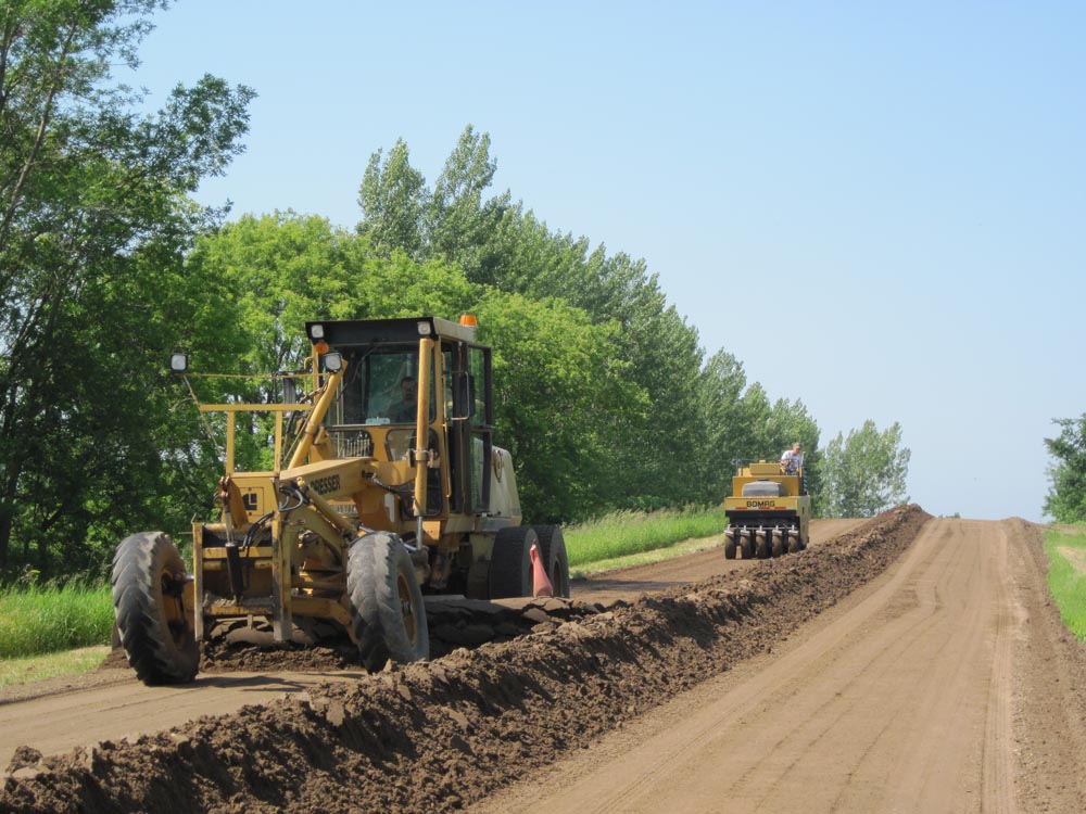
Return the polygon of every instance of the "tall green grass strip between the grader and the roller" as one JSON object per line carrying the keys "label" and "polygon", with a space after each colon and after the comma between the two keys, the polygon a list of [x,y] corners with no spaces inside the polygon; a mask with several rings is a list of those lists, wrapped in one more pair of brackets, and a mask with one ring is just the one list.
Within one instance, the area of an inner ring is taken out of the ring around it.
{"label": "tall green grass strip between the grader and the roller", "polygon": [[[655,562],[689,554],[687,550],[674,550],[674,545],[722,534],[727,524],[722,508],[675,509],[649,513],[618,511],[563,529],[563,534],[570,569],[583,573],[590,567],[591,571],[603,571],[639,564],[637,561],[628,561],[626,558],[646,551],[666,549],[659,556],[640,562]],[[614,564],[615,562],[621,564]]]}

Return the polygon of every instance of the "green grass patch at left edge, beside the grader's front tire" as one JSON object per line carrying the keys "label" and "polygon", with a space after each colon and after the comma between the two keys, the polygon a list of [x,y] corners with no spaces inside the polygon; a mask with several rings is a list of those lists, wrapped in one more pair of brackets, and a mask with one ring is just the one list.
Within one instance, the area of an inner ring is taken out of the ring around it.
{"label": "green grass patch at left edge, beside the grader's front tire", "polygon": [[84,583],[0,588],[0,658],[106,645],[113,631],[108,587]]}

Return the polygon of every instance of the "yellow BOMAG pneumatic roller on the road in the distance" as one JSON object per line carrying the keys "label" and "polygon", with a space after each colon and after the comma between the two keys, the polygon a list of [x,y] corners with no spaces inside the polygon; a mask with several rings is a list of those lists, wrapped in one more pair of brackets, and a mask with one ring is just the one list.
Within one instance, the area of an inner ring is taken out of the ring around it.
{"label": "yellow BOMAG pneumatic roller on the road in the distance", "polygon": [[811,499],[803,467],[736,461],[732,496],[724,498],[724,557],[780,557],[801,551],[810,540]]}

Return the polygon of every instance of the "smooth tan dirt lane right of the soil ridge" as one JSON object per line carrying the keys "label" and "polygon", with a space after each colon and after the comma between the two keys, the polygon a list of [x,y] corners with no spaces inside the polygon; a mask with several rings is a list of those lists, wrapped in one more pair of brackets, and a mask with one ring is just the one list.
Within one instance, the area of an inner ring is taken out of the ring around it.
{"label": "smooth tan dirt lane right of the soil ridge", "polygon": [[832,619],[478,811],[1016,811],[1038,586],[1015,532],[931,521]]}

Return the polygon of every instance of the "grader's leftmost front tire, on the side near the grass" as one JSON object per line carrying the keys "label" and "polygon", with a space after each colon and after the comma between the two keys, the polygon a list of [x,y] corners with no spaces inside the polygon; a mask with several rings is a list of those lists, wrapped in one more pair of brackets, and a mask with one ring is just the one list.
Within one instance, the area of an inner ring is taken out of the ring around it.
{"label": "grader's leftmost front tire, on the side near the grass", "polygon": [[113,610],[128,663],[144,684],[185,684],[200,669],[200,648],[185,608],[188,580],[174,542],[162,532],[126,537],[113,558]]}

